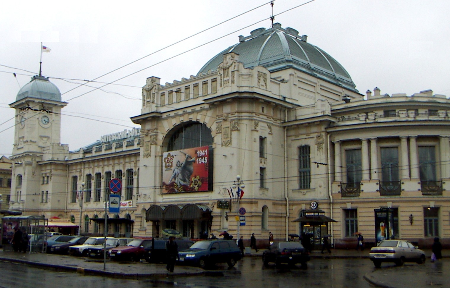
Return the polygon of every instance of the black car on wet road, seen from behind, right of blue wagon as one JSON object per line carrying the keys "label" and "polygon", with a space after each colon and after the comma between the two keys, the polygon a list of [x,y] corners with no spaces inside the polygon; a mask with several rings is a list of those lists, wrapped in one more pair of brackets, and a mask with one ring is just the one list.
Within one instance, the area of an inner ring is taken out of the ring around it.
{"label": "black car on wet road, seen from behind, right of blue wagon", "polygon": [[289,265],[301,263],[302,268],[306,269],[310,259],[311,256],[308,249],[303,247],[302,243],[295,241],[275,242],[262,253],[262,262],[265,266],[268,266],[270,262],[276,265],[280,263]]}

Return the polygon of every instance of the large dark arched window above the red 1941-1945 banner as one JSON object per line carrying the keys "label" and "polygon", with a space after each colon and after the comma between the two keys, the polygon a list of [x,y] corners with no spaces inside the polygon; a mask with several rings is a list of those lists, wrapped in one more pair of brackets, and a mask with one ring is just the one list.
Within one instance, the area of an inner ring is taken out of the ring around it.
{"label": "large dark arched window above the red 1941-1945 banner", "polygon": [[187,122],[175,129],[167,144],[167,151],[212,145],[211,130],[205,124]]}

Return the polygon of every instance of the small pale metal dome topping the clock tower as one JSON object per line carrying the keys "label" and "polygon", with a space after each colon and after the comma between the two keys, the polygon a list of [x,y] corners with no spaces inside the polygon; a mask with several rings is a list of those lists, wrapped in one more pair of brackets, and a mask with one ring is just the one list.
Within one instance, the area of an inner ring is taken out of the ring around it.
{"label": "small pale metal dome topping the clock tower", "polygon": [[52,100],[61,102],[61,92],[49,78],[35,75],[31,81],[25,84],[17,93],[16,101],[26,97],[33,97],[42,100]]}

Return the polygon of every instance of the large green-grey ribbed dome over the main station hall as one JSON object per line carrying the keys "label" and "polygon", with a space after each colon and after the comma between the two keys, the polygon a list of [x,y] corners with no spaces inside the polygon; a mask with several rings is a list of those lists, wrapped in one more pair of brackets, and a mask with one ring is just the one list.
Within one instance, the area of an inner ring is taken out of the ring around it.
{"label": "large green-grey ribbed dome over the main station hall", "polygon": [[197,75],[216,71],[229,52],[239,54],[245,68],[266,67],[270,72],[294,68],[333,84],[358,92],[350,75],[324,50],[306,42],[306,35],[299,36],[293,28],[281,28],[275,23],[272,28],[258,28],[250,36],[239,36],[239,43],[223,50],[209,60]]}

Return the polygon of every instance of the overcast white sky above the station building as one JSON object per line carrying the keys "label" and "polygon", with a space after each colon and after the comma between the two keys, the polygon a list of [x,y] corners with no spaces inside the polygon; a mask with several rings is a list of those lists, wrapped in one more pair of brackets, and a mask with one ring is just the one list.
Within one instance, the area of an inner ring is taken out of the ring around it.
{"label": "overcast white sky above the station building", "polygon": [[[9,104],[39,73],[40,42],[51,49],[42,54],[42,74],[50,77],[68,102],[63,108],[61,143],[74,151],[102,135],[139,127],[130,117],[140,114],[141,87],[147,77],[159,77],[165,84],[196,75],[210,58],[237,43],[238,35],[269,28],[270,20],[264,19],[270,17],[270,5],[154,52],[268,2],[4,1],[0,10],[0,155],[11,155],[14,109]],[[306,2],[275,0],[274,14]],[[382,94],[412,95],[432,89],[450,96],[449,15],[449,0],[315,0],[275,16],[275,22],[308,35],[309,43],[344,66],[362,94],[379,87]],[[86,86],[68,92],[85,83],[82,80],[95,79],[151,53],[97,80],[102,83],[88,85],[100,87],[142,70],[115,84],[92,92],[94,88]]]}

